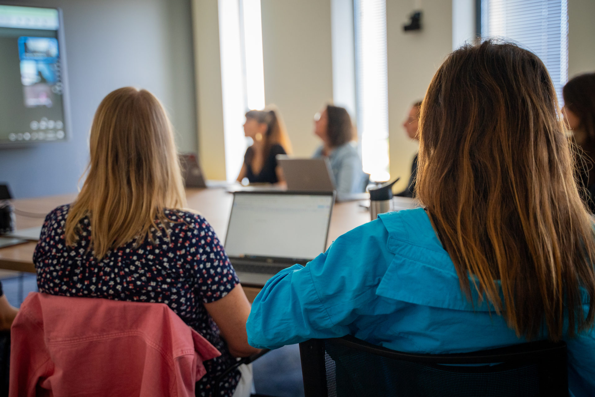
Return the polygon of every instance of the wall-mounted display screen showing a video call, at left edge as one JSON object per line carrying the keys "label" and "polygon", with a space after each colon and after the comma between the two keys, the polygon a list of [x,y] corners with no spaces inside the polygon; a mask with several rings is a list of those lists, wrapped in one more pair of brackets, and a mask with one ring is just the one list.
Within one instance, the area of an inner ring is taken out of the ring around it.
{"label": "wall-mounted display screen showing a video call, at left edge", "polygon": [[65,140],[60,12],[0,5],[0,144]]}

